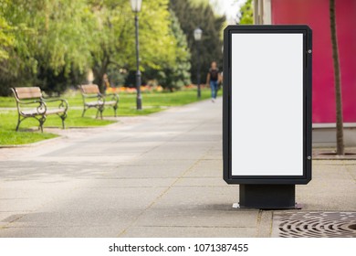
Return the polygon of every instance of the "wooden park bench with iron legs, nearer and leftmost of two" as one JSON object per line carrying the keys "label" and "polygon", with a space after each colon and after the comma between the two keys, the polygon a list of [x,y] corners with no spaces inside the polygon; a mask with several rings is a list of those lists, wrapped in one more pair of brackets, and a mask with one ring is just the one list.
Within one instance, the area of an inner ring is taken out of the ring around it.
{"label": "wooden park bench with iron legs, nearer and leftmost of two", "polygon": [[[20,123],[26,118],[33,117],[39,122],[38,128],[43,133],[43,124],[47,115],[57,114],[62,120],[62,127],[65,128],[67,118],[68,102],[63,99],[44,99],[39,87],[16,87],[11,88],[16,99],[18,121],[16,131]],[[58,107],[49,108],[47,102],[58,101]]]}

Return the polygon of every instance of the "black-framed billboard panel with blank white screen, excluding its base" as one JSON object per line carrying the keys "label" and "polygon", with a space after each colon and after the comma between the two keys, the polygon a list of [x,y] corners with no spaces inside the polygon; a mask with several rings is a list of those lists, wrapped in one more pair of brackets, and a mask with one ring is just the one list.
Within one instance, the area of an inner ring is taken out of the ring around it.
{"label": "black-framed billboard panel with blank white screen, excluding its base", "polygon": [[311,29],[229,26],[224,34],[224,179],[311,179]]}

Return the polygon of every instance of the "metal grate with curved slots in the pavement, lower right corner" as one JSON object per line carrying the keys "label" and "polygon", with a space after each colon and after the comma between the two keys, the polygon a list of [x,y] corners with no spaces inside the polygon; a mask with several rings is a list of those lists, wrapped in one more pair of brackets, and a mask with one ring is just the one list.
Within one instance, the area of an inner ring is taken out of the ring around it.
{"label": "metal grate with curved slots in the pavement, lower right corner", "polygon": [[272,237],[356,238],[356,212],[280,212]]}

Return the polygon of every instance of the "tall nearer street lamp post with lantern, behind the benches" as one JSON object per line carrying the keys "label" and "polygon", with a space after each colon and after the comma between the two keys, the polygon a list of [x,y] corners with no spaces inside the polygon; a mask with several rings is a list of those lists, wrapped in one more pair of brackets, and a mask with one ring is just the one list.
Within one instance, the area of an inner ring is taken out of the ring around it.
{"label": "tall nearer street lamp post with lantern, behind the benches", "polygon": [[135,28],[136,28],[136,109],[142,109],[141,98],[141,71],[140,71],[140,52],[139,52],[139,17],[137,14],[141,11],[142,0],[130,0],[132,12],[135,14]]}

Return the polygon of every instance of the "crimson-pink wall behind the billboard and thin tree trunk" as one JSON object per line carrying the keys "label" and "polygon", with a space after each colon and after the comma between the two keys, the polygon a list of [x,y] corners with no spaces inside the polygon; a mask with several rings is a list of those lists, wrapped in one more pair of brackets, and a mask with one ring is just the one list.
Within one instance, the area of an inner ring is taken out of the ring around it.
{"label": "crimson-pink wall behind the billboard and thin tree trunk", "polygon": [[[313,123],[335,123],[329,0],[272,0],[272,24],[313,30]],[[356,123],[356,0],[336,0],[343,118]]]}

